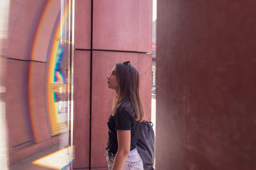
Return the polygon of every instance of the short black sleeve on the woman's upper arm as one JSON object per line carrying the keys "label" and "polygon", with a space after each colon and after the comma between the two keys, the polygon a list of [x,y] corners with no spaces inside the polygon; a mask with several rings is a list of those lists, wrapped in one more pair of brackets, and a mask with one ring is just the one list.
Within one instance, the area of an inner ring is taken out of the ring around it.
{"label": "short black sleeve on the woman's upper arm", "polygon": [[131,130],[131,117],[124,109],[116,113],[116,130]]}

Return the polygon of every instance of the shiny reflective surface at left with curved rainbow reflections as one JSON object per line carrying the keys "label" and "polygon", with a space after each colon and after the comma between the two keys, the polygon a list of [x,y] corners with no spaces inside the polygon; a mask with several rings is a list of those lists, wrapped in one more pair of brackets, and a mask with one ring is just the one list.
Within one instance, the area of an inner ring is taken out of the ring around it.
{"label": "shiny reflective surface at left with curved rainbow reflections", "polygon": [[72,1],[1,1],[1,169],[70,169]]}

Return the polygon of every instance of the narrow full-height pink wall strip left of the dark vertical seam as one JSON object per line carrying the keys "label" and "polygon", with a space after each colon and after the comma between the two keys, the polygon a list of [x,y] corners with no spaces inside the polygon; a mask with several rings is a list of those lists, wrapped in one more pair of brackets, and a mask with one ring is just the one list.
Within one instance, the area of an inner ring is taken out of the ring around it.
{"label": "narrow full-height pink wall strip left of the dark vertical seam", "polygon": [[90,168],[91,6],[75,2],[74,31],[74,146],[73,168]]}

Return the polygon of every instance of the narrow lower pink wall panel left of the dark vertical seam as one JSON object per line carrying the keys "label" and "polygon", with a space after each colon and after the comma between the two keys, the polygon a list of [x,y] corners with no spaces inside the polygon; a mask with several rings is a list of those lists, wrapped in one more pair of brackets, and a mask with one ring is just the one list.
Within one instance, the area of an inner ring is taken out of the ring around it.
{"label": "narrow lower pink wall panel left of the dark vertical seam", "polygon": [[74,52],[74,168],[89,167],[90,52]]}

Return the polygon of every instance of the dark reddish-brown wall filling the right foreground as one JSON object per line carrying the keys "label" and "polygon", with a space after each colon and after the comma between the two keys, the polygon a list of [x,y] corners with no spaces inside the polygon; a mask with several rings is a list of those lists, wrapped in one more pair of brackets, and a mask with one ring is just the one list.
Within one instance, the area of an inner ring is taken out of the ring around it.
{"label": "dark reddish-brown wall filling the right foreground", "polygon": [[157,1],[156,169],[256,169],[255,8]]}

